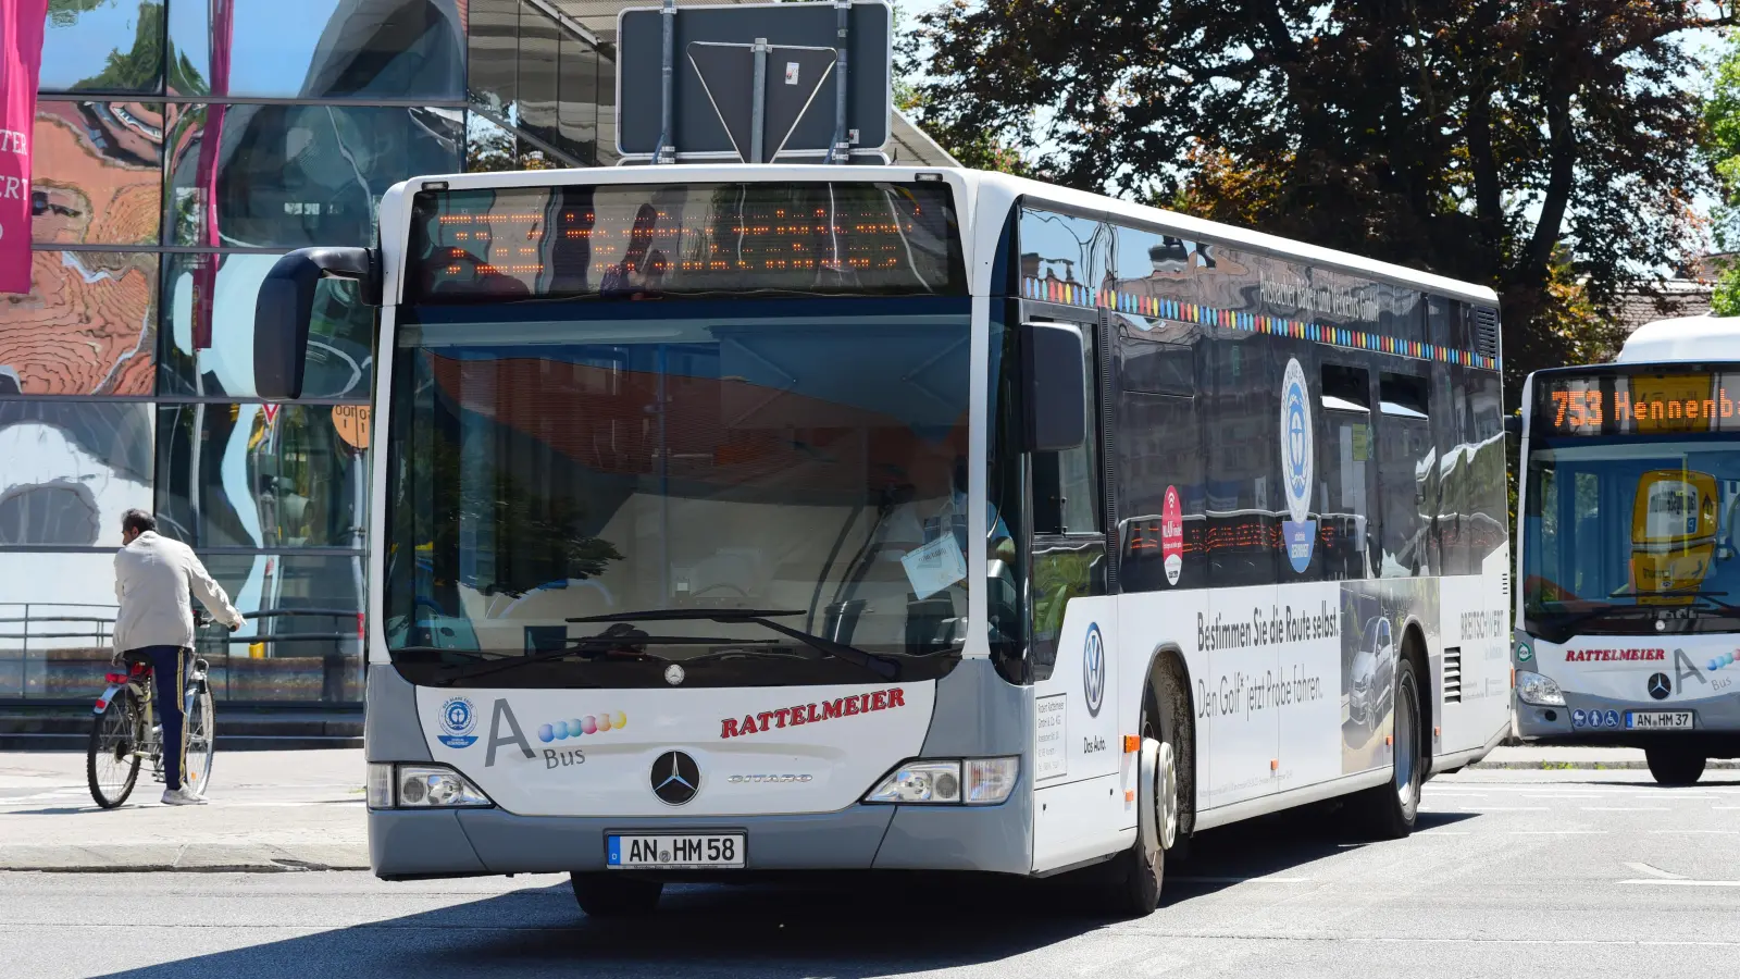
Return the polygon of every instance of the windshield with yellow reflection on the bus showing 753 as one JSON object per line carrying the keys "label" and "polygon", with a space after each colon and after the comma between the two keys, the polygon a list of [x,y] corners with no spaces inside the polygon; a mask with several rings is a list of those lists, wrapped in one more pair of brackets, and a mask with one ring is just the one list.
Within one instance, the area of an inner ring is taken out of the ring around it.
{"label": "windshield with yellow reflection on the bus showing 753", "polygon": [[1549,441],[1528,458],[1529,632],[1740,629],[1740,444],[1723,435]]}

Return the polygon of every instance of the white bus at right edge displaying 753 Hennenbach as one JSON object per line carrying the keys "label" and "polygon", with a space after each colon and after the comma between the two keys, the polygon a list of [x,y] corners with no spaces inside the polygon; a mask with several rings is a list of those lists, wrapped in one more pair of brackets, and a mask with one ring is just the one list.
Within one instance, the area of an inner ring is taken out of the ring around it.
{"label": "white bus at right edge displaying 753 Hennenbach", "polygon": [[1696,782],[1740,754],[1740,319],[1529,375],[1521,458],[1517,732]]}

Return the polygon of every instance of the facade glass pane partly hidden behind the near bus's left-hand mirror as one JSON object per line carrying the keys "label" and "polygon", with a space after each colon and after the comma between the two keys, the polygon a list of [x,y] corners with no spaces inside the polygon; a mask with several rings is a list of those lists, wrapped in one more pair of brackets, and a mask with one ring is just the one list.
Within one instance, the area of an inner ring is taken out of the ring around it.
{"label": "facade glass pane partly hidden behind the near bus's left-hand mirror", "polygon": [[[164,268],[160,394],[252,397],[254,300],[277,254],[172,254]],[[324,279],[315,289],[303,397],[367,397],[374,368],[374,310],[357,286]]]}

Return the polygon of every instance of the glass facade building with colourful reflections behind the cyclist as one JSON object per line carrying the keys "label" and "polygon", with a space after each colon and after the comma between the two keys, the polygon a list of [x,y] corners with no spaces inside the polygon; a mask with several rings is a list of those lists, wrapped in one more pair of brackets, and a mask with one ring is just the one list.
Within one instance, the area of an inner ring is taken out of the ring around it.
{"label": "glass facade building with colourful reflections behind the cyclist", "polygon": [[252,383],[261,279],[376,237],[416,174],[614,164],[607,42],[552,0],[49,0],[33,286],[0,294],[0,704],[90,697],[120,514],[251,624],[235,704],[355,706],[374,314],[324,293],[310,387]]}

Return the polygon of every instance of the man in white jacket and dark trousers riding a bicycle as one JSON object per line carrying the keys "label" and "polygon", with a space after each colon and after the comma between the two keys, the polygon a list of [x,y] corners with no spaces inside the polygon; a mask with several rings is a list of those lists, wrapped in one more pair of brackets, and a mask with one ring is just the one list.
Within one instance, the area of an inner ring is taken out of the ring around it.
{"label": "man in white jacket and dark trousers riding a bicycle", "polygon": [[193,655],[193,604],[188,594],[198,596],[200,604],[230,631],[240,629],[245,620],[193,549],[157,533],[151,514],[122,514],[120,542],[122,549],[115,552],[115,601],[120,603],[115,650],[127,658],[148,660],[157,678],[157,716],[164,726],[164,805],[202,805],[205,787],[181,784],[188,756],[181,692],[188,657]]}

